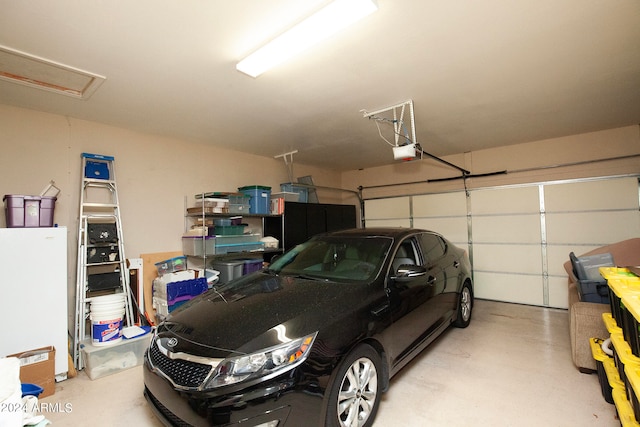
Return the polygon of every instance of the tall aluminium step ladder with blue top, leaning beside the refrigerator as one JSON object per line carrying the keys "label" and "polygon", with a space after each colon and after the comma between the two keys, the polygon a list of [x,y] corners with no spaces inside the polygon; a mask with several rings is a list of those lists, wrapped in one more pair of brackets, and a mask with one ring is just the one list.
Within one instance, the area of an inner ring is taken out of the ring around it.
{"label": "tall aluminium step ladder with blue top, leaning beside the refrigerator", "polygon": [[129,270],[112,156],[82,153],[80,212],[78,215],[78,264],[73,361],[84,368],[80,344],[91,337],[91,298],[124,294],[125,326],[132,326],[134,313]]}

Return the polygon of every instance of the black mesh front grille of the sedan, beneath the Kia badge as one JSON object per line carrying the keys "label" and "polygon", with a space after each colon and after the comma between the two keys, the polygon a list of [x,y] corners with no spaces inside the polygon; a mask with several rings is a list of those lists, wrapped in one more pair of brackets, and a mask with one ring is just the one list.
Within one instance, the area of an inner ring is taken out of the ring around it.
{"label": "black mesh front grille of the sedan, beneath the Kia badge", "polygon": [[149,348],[149,361],[176,386],[185,388],[198,388],[204,383],[212,369],[210,365],[202,363],[170,359],[162,354],[156,341]]}

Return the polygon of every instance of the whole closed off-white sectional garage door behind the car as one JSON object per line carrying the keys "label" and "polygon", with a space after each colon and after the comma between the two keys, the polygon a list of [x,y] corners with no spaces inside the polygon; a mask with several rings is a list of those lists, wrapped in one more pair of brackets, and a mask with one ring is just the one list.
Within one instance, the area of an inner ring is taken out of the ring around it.
{"label": "whole closed off-white sectional garage door behind the car", "polygon": [[365,201],[365,225],[438,231],[469,251],[476,297],[567,307],[571,251],[640,236],[637,177]]}

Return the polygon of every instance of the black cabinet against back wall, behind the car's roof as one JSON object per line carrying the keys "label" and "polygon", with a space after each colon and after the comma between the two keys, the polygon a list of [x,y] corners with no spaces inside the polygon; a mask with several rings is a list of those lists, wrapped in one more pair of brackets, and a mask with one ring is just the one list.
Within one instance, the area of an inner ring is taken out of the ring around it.
{"label": "black cabinet against back wall, behind the car's roof", "polygon": [[285,202],[284,249],[307,241],[319,233],[355,228],[354,205]]}

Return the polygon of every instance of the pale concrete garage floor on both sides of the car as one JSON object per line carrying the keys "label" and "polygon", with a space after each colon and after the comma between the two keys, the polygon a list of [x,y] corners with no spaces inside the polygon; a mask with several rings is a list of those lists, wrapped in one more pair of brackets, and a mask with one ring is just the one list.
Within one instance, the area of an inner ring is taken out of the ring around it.
{"label": "pale concrete garage floor on both sides of the car", "polygon": [[[476,301],[467,329],[393,378],[374,426],[620,426],[598,376],[573,366],[568,322],[565,310]],[[53,425],[159,427],[142,388],[141,367],[95,381],[80,372],[41,402]]]}

